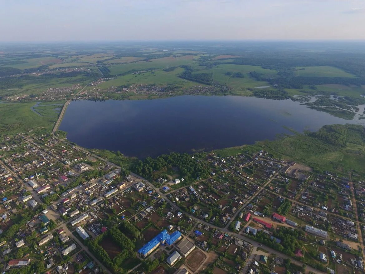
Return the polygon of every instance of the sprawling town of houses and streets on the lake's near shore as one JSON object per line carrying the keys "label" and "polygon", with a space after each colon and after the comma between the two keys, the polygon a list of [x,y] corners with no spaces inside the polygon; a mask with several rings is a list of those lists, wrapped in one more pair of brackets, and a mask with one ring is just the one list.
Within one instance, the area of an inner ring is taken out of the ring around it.
{"label": "sprawling town of houses and streets on the lake's near shore", "polygon": [[[193,160],[209,178],[147,180],[42,131],[4,138],[4,271],[41,260],[44,273],[117,273],[89,248],[97,241],[116,264],[117,226],[138,235],[128,273],[364,272],[364,182],[264,151]],[[295,248],[277,250],[293,231]],[[146,259],[159,265],[143,268]]]}

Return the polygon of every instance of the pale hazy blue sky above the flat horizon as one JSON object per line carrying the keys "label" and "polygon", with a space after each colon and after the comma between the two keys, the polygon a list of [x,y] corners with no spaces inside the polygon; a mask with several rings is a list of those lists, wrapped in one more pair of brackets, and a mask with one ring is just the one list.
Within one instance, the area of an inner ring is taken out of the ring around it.
{"label": "pale hazy blue sky above the flat horizon", "polygon": [[365,39],[365,0],[0,0],[0,42]]}

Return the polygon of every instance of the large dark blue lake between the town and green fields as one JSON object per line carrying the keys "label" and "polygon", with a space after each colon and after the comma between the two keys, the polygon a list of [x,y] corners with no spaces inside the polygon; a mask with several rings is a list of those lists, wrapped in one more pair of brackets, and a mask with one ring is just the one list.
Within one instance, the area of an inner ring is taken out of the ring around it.
{"label": "large dark blue lake between the town and green fields", "polygon": [[74,101],[59,129],[86,148],[145,158],[162,153],[210,151],[278,133],[318,130],[327,124],[361,123],[311,110],[291,100],[241,96],[178,96],[154,100]]}

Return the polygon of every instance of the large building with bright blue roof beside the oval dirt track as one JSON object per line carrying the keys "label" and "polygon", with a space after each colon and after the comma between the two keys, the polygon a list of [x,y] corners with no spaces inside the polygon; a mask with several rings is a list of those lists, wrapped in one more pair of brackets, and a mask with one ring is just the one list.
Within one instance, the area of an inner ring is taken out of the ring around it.
{"label": "large building with bright blue roof beside the oval dirt track", "polygon": [[156,248],[160,247],[160,245],[165,245],[171,247],[174,243],[181,239],[181,232],[175,231],[171,234],[167,232],[165,229],[158,233],[152,240],[146,243],[142,248],[138,250],[138,254],[140,254],[143,258],[151,254]]}

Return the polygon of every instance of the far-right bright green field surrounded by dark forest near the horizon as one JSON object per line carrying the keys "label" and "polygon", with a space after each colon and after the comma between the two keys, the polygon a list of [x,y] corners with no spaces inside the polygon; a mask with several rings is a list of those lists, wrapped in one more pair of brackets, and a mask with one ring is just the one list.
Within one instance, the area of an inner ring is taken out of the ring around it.
{"label": "far-right bright green field surrounded by dark forest near the horizon", "polygon": [[302,77],[348,77],[354,78],[355,75],[345,72],[334,66],[297,66],[296,76]]}

